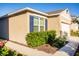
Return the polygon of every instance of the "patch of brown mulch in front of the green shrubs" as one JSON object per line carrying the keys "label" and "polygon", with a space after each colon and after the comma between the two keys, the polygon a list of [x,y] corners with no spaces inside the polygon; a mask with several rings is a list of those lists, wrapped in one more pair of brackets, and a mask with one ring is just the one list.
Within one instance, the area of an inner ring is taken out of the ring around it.
{"label": "patch of brown mulch in front of the green shrubs", "polygon": [[49,44],[44,44],[42,46],[37,47],[36,49],[47,52],[47,53],[51,53],[51,54],[54,54],[58,50],[58,48],[52,47]]}

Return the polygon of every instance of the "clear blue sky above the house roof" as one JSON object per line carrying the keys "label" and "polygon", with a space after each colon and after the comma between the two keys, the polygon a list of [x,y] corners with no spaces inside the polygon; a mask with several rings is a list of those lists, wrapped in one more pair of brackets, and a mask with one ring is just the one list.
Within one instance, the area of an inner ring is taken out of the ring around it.
{"label": "clear blue sky above the house roof", "polygon": [[0,3],[0,16],[25,7],[30,7],[42,12],[68,8],[71,15],[79,16],[78,3]]}

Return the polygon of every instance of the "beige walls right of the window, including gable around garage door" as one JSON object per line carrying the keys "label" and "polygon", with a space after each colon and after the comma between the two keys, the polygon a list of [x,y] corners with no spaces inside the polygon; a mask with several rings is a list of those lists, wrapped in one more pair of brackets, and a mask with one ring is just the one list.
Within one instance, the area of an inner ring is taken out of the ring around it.
{"label": "beige walls right of the window, including gable around garage door", "polygon": [[[60,31],[62,31],[62,23],[69,25],[68,36],[70,35],[70,25],[71,25],[71,16],[69,12],[67,13],[66,10],[61,12],[58,17],[49,17],[48,18],[48,30],[56,30],[58,36],[60,35]],[[64,27],[64,30],[66,27]]]}

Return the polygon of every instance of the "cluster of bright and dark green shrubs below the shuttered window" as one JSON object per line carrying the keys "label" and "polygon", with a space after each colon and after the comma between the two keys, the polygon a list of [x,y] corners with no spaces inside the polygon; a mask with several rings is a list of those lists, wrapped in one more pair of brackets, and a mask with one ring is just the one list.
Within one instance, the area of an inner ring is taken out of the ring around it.
{"label": "cluster of bright and dark green shrubs below the shuttered window", "polygon": [[37,47],[43,44],[61,48],[67,41],[66,36],[56,38],[56,31],[31,32],[27,35],[26,41],[29,47]]}

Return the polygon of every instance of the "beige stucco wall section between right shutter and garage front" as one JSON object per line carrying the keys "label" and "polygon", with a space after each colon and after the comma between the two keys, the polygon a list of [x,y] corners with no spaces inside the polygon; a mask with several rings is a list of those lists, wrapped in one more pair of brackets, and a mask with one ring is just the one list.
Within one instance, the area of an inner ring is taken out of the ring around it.
{"label": "beige stucco wall section between right shutter and garage front", "polygon": [[57,35],[60,35],[60,18],[57,17],[49,17],[48,18],[48,30],[56,30]]}

